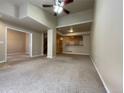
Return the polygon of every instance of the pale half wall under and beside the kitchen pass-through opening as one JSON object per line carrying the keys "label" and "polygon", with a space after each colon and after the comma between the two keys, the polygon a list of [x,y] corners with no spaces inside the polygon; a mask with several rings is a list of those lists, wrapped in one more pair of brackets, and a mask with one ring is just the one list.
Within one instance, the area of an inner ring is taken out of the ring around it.
{"label": "pale half wall under and beside the kitchen pass-through opening", "polygon": [[67,39],[63,41],[63,53],[66,54],[81,54],[81,55],[89,55],[90,54],[90,35],[83,35],[83,46],[74,45],[74,46],[65,46],[65,42]]}

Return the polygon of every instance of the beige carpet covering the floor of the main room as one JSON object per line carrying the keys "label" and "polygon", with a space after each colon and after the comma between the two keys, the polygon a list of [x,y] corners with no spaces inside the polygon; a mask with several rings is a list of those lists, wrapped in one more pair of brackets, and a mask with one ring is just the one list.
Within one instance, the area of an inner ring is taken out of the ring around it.
{"label": "beige carpet covering the floor of the main room", "polygon": [[0,67],[0,93],[106,93],[88,56],[59,55]]}

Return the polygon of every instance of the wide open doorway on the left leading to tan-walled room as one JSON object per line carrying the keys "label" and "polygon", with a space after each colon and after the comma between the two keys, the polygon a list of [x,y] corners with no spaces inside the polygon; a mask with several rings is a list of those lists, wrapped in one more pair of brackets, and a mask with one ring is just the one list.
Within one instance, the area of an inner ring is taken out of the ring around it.
{"label": "wide open doorway on the left leading to tan-walled room", "polygon": [[7,27],[6,61],[23,61],[30,57],[32,57],[32,33]]}

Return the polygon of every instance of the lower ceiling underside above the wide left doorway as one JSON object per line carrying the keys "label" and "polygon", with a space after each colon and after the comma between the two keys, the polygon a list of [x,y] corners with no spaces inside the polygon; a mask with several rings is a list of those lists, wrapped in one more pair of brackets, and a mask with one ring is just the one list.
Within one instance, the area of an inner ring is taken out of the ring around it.
{"label": "lower ceiling underside above the wide left doorway", "polygon": [[[24,18],[23,20],[18,18],[13,18],[10,16],[2,16],[1,20],[7,22],[8,24],[19,26],[22,28],[26,28],[28,30],[35,30],[35,31],[46,31],[48,28],[37,21],[30,19],[29,17]],[[30,28],[30,29],[29,29]]]}

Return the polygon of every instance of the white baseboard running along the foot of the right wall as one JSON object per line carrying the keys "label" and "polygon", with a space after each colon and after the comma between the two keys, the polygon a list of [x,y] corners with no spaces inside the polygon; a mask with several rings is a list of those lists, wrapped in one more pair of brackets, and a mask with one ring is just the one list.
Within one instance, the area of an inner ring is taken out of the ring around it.
{"label": "white baseboard running along the foot of the right wall", "polygon": [[107,92],[107,93],[110,93],[110,90],[108,89],[108,87],[107,87],[107,85],[106,85],[104,79],[102,78],[102,75],[100,74],[99,69],[97,68],[97,66],[96,66],[96,64],[95,64],[95,61],[93,60],[93,58],[92,58],[91,55],[90,55],[90,59],[91,59],[93,65],[94,65],[94,67],[95,67],[95,69],[96,69],[96,71],[97,71],[97,73],[98,73],[98,75],[99,75],[99,77],[100,77],[102,83],[103,83],[103,86],[104,86],[106,92]]}

